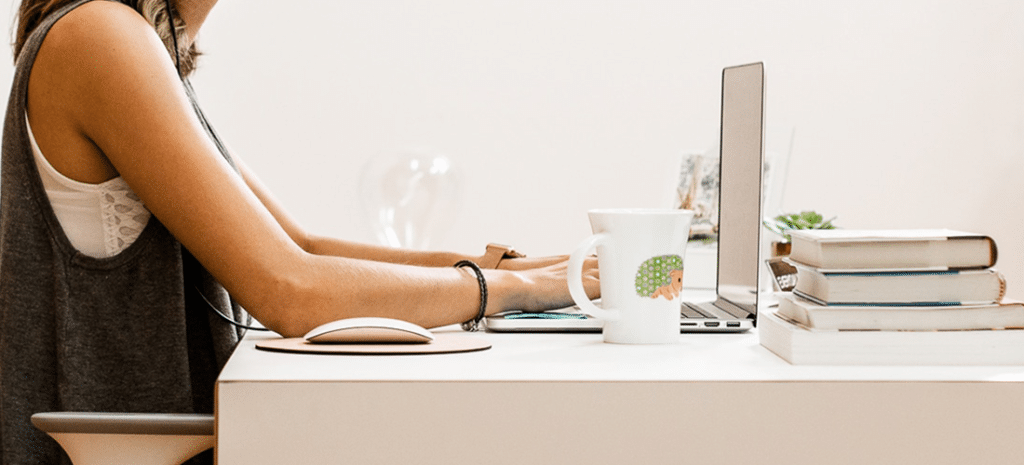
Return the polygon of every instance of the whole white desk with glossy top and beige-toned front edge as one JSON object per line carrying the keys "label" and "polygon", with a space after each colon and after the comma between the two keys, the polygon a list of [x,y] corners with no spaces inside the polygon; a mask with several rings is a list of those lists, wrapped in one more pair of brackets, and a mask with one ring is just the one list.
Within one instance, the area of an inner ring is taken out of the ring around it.
{"label": "whole white desk with glossy top and beige-toned front edge", "polygon": [[219,463],[1024,462],[1024,367],[794,367],[756,333],[480,336],[494,347],[338,356],[251,333],[217,383]]}

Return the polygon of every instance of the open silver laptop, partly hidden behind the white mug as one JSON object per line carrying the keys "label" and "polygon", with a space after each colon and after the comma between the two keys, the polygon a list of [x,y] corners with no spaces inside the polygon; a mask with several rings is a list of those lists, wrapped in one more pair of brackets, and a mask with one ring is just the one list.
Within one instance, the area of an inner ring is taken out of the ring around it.
{"label": "open silver laptop, partly hidden behind the white mug", "polygon": [[[684,302],[682,332],[740,332],[757,322],[761,266],[761,182],[764,166],[764,64],[722,71],[722,129],[719,152],[718,277],[711,302]],[[599,319],[570,307],[486,319],[496,332],[600,331]]]}

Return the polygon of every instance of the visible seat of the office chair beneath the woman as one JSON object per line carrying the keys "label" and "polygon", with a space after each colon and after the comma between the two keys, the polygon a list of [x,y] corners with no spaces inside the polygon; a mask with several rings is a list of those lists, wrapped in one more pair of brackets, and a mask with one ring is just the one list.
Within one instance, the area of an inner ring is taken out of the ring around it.
{"label": "visible seat of the office chair beneath the woman", "polygon": [[47,412],[32,424],[75,465],[177,465],[214,446],[213,415]]}

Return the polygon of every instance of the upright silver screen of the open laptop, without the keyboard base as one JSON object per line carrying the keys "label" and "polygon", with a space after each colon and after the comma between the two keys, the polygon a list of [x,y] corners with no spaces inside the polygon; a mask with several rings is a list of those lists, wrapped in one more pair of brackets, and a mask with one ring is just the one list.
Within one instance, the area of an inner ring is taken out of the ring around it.
{"label": "upright silver screen of the open laptop, without the keyboard base", "polygon": [[718,295],[757,311],[761,182],[764,159],[764,65],[722,72]]}

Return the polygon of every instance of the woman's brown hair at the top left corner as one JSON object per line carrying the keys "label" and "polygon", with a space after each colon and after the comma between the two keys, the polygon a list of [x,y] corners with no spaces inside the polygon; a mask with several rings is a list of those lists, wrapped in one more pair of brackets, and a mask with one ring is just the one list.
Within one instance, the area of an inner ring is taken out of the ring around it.
{"label": "woman's brown hair at the top left corner", "polygon": [[[43,18],[75,1],[23,0],[17,8],[16,23],[14,24],[14,43],[12,44],[14,47],[14,59],[17,59],[18,54],[22,53],[22,48],[25,47],[25,42],[29,39],[32,32],[36,30],[36,27],[42,23]],[[174,40],[171,36],[170,22],[167,20],[167,3],[165,0],[115,1],[130,6],[135,11],[138,11],[147,23],[153,25],[153,29],[157,31],[157,35],[160,36],[160,39],[164,42],[164,46],[167,47],[167,52],[170,53],[172,58],[174,57]],[[174,33],[180,39],[185,34],[185,24],[181,19],[181,16],[174,14],[173,7],[171,12],[174,17]],[[177,55],[181,59],[181,76],[184,77],[196,70],[196,58],[201,53],[196,49],[195,41],[187,47],[184,45],[184,41],[179,40],[178,42],[180,45]]]}

